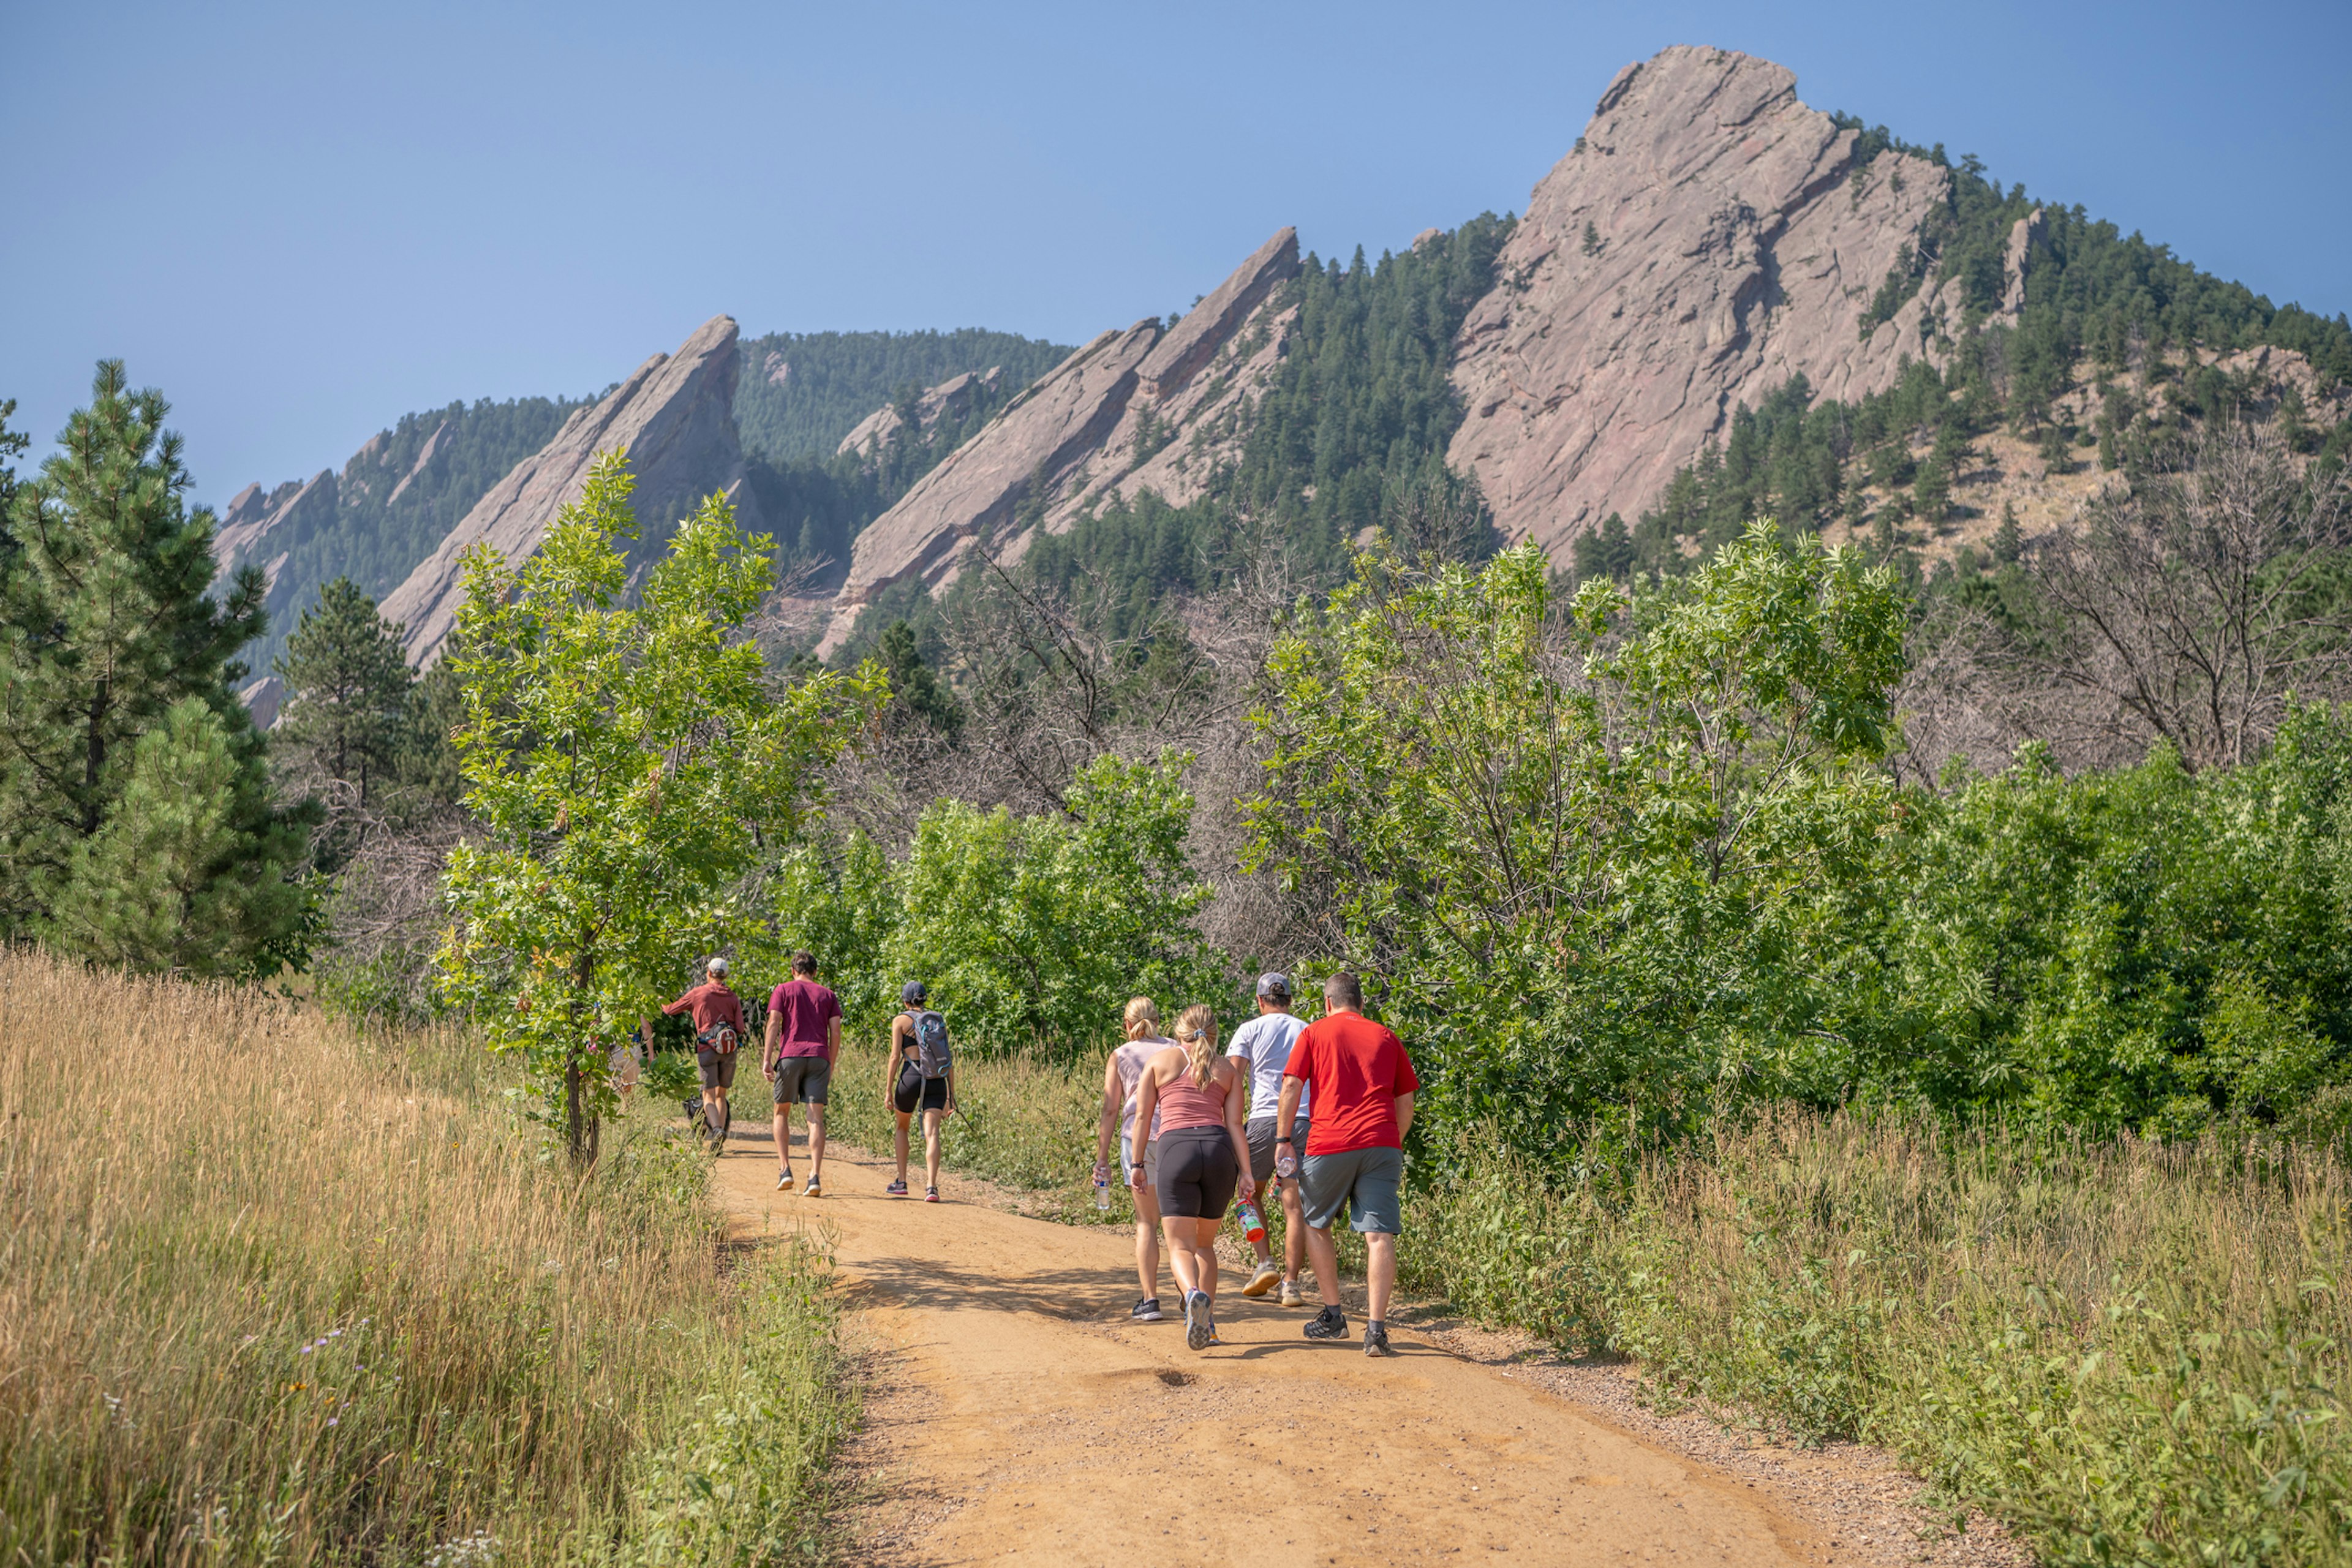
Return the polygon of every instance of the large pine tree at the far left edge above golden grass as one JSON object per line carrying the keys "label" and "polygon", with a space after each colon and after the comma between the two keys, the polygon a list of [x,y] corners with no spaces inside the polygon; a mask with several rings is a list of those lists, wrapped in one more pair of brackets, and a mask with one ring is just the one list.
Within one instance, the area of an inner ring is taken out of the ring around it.
{"label": "large pine tree at the far left edge above golden grass", "polygon": [[[181,444],[162,418],[160,393],[129,390],[122,362],[101,362],[89,407],[9,508],[0,936],[45,933],[139,966],[256,973],[301,957],[308,900],[289,877],[315,809],[270,806],[233,658],[263,630],[263,581],[247,569],[207,597],[214,520],[188,510]],[[209,729],[183,708],[191,701]],[[165,738],[139,755],[160,726]],[[176,745],[195,750],[176,757]],[[176,825],[158,813],[179,813]],[[169,865],[132,865],[139,846],[162,842],[174,846]],[[174,929],[186,938],[162,936]]]}

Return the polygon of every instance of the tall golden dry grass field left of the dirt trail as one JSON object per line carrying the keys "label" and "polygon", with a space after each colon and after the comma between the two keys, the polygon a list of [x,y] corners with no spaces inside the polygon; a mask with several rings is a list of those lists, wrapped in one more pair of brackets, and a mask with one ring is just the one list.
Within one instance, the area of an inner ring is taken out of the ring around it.
{"label": "tall golden dry grass field left of the dirt trail", "polygon": [[640,1105],[586,1182],[456,1034],[0,954],[0,1561],[818,1552],[823,1258],[722,1269]]}

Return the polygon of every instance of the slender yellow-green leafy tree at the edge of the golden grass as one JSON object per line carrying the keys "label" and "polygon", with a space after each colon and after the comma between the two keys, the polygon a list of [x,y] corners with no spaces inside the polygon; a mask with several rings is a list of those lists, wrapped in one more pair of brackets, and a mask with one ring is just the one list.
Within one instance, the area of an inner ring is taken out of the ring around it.
{"label": "slender yellow-green leafy tree at the edge of the golden grass", "polygon": [[887,696],[877,668],[769,693],[743,621],[771,541],[710,496],[623,604],[630,475],[604,454],[520,567],[466,559],[456,748],[482,839],[449,856],[445,994],[524,1058],[574,1159],[593,1159],[600,1039],[668,1001],[691,952],[753,929],[762,846],[814,811],[818,766]]}

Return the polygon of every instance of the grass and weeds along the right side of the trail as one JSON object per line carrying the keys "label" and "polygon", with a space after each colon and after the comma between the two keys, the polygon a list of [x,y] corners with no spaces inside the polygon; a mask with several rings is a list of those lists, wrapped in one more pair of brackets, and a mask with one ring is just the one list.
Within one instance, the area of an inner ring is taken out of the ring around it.
{"label": "grass and weeds along the right side of the trail", "polygon": [[[1094,1222],[1096,1072],[962,1063],[948,1161]],[[880,1081],[844,1051],[833,1126],[887,1150]],[[1788,1112],[1557,1187],[1470,1140],[1409,1194],[1402,1260],[1668,1399],[1884,1443],[2049,1563],[2352,1563],[2352,1180],[2326,1150]]]}

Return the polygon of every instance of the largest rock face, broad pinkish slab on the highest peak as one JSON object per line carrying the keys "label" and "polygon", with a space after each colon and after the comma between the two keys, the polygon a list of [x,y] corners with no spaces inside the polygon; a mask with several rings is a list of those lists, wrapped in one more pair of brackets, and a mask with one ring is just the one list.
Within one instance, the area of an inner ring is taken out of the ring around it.
{"label": "largest rock face, broad pinkish slab on the highest peak", "polygon": [[1825,397],[1884,390],[1905,355],[1938,357],[1947,301],[1860,324],[1945,190],[1922,158],[1863,165],[1856,132],[1771,61],[1672,47],[1625,66],[1463,324],[1449,461],[1510,538],[1562,555],[1609,512],[1653,505],[1738,404],[1790,376]]}

